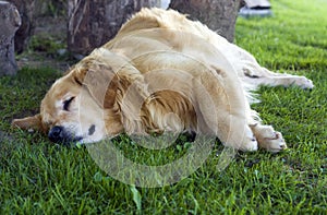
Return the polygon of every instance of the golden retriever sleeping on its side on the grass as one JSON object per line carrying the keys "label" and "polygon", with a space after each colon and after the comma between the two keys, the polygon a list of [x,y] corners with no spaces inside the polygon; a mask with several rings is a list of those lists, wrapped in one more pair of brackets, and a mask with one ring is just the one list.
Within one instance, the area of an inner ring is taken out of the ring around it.
{"label": "golden retriever sleeping on its side on the grass", "polygon": [[143,9],[55,82],[38,115],[12,124],[63,143],[195,132],[241,151],[280,152],[282,134],[250,107],[259,85],[314,87],[304,76],[261,67],[186,15]]}

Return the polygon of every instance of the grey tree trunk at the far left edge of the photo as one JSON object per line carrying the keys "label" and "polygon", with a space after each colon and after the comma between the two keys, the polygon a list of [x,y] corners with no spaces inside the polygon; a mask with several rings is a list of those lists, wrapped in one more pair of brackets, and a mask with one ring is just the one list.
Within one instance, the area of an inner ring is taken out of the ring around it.
{"label": "grey tree trunk at the far left edge of the photo", "polygon": [[21,25],[17,9],[7,1],[0,1],[0,76],[13,75],[17,71],[14,53],[14,36]]}

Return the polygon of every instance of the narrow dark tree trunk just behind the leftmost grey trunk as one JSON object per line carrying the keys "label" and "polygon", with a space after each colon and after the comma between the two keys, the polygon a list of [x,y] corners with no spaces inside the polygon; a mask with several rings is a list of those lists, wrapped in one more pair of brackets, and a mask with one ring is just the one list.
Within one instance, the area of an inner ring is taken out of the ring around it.
{"label": "narrow dark tree trunk just behind the leftmost grey trunk", "polygon": [[15,4],[21,17],[22,25],[17,29],[15,35],[15,51],[17,53],[23,52],[29,41],[34,31],[34,3],[35,0],[8,0]]}

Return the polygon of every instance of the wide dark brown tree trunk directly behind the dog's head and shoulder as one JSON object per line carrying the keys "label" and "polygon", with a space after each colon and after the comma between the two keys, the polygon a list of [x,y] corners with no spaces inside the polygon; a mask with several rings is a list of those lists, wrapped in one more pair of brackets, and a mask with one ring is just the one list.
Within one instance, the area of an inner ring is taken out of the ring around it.
{"label": "wide dark brown tree trunk directly behind the dog's head and shoulder", "polygon": [[69,0],[68,48],[87,55],[111,39],[121,25],[143,7],[160,0]]}

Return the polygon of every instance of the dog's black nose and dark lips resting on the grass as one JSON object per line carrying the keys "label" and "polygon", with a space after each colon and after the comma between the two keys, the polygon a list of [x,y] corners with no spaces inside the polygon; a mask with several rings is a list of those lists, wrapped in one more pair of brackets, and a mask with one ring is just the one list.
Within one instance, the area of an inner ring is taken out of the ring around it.
{"label": "dog's black nose and dark lips resting on the grass", "polygon": [[76,136],[75,134],[66,131],[63,127],[60,126],[53,127],[49,131],[48,138],[50,141],[62,145],[70,145],[71,143],[83,141],[83,136]]}

